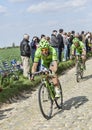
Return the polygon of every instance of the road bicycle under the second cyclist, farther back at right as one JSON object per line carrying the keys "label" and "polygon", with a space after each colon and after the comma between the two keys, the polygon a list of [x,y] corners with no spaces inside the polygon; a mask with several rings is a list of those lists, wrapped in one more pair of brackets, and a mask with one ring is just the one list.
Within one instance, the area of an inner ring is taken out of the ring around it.
{"label": "road bicycle under the second cyclist, farther back at right", "polygon": [[79,82],[83,78],[84,66],[81,55],[76,55],[76,81]]}

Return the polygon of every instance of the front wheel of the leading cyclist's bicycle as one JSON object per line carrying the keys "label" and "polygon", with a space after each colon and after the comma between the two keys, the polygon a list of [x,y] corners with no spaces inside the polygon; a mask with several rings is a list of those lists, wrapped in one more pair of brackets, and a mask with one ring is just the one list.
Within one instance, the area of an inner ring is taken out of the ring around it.
{"label": "front wheel of the leading cyclist's bicycle", "polygon": [[39,107],[42,115],[46,119],[50,119],[53,110],[53,101],[50,97],[50,93],[45,83],[41,83],[38,91]]}

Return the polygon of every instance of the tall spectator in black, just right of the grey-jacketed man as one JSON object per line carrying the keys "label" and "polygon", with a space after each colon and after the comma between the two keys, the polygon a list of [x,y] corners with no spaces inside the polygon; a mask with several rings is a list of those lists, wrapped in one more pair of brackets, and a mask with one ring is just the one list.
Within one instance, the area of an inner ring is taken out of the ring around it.
{"label": "tall spectator in black, just right of the grey-jacketed man", "polygon": [[63,29],[59,29],[59,33],[57,35],[57,39],[58,39],[58,59],[59,62],[62,61],[62,52],[64,49],[64,41],[63,41]]}

